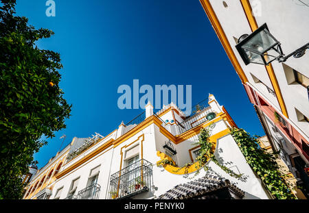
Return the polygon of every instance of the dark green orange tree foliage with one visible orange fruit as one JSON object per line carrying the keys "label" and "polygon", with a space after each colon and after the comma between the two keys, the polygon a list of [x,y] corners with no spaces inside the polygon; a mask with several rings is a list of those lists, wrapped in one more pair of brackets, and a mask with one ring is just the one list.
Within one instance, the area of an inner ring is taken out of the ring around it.
{"label": "dark green orange tree foliage with one visible orange fruit", "polygon": [[54,34],[14,16],[16,0],[0,4],[0,199],[19,199],[33,154],[65,128],[71,105],[59,88],[60,55],[35,42]]}

